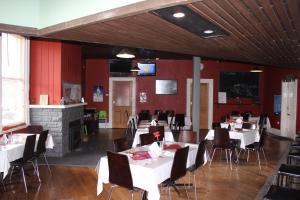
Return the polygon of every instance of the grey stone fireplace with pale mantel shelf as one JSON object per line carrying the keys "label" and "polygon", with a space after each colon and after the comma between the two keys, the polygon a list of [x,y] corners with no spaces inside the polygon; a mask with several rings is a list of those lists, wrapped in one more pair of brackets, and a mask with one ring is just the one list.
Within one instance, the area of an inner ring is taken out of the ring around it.
{"label": "grey stone fireplace with pale mantel shelf", "polygon": [[63,157],[81,144],[84,105],[30,105],[30,124],[48,129],[54,148],[47,156]]}

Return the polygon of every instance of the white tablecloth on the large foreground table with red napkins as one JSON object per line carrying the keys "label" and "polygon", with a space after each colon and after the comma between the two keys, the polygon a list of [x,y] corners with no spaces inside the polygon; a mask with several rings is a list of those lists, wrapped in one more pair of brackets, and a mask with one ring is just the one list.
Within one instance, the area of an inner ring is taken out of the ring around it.
{"label": "white tablecloth on the large foreground table with red napkins", "polygon": [[[195,163],[198,145],[187,143],[179,144],[182,146],[190,146],[187,167],[192,166]],[[136,150],[148,150],[148,146],[138,147]],[[160,198],[158,184],[170,177],[174,152],[174,150],[163,151],[163,156],[160,156],[157,160],[132,160],[129,157],[133,186],[147,191],[149,200],[158,200]],[[100,159],[96,171],[98,173],[97,195],[99,195],[103,190],[103,183],[109,182],[108,161],[106,156]]]}

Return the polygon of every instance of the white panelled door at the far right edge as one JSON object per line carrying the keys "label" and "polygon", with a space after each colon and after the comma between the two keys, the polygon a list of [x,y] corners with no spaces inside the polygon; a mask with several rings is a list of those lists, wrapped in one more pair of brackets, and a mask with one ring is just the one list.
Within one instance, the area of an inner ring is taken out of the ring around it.
{"label": "white panelled door at the far right edge", "polygon": [[296,136],[297,88],[297,79],[281,83],[280,132],[281,136],[291,139]]}

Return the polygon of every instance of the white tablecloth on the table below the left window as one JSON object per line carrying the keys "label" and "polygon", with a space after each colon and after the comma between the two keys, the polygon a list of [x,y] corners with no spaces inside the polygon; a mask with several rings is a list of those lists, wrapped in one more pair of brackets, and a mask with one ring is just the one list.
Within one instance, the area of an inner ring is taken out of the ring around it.
{"label": "white tablecloth on the table below the left window", "polygon": [[[0,172],[3,172],[5,177],[10,168],[10,162],[22,158],[26,137],[32,134],[12,134],[12,141],[6,145],[0,145]],[[36,137],[36,144],[39,134]],[[48,134],[46,148],[53,149],[54,142],[51,134]],[[36,148],[36,147],[35,147]]]}

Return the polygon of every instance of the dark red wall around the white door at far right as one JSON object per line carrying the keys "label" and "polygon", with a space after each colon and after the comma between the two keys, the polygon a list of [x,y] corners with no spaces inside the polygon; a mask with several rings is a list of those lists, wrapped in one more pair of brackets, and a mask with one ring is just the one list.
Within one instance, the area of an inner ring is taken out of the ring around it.
{"label": "dark red wall around the white door at far right", "polygon": [[274,115],[274,95],[281,94],[281,80],[286,75],[293,75],[298,79],[298,97],[297,97],[297,132],[300,131],[300,70],[286,68],[265,68],[265,102],[264,111],[269,114],[271,126],[280,128],[280,116]]}

